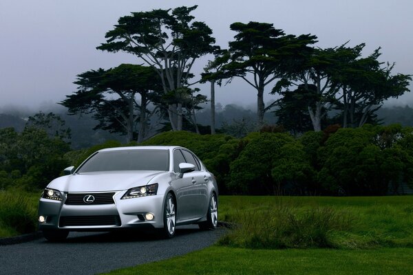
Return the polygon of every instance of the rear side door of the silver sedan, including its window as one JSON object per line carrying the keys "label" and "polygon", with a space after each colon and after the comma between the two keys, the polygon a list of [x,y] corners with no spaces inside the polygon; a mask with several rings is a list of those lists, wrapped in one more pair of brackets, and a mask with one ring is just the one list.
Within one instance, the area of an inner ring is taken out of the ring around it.
{"label": "rear side door of the silver sedan, including its window", "polygon": [[191,178],[192,183],[191,197],[189,198],[191,210],[189,214],[193,218],[202,217],[207,212],[207,204],[209,202],[209,196],[207,194],[207,173],[200,170],[200,163],[191,152],[184,149],[181,151],[187,163],[195,166],[195,171],[187,174],[187,177]]}

